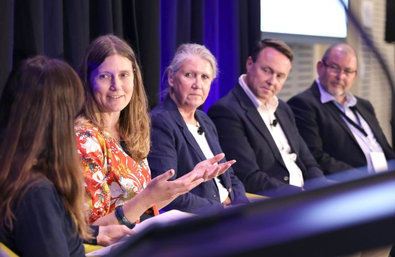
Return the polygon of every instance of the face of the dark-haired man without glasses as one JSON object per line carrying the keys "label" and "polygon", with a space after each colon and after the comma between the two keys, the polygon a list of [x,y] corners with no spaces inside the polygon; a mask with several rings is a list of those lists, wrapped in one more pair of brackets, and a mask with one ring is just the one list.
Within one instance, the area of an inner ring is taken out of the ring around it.
{"label": "face of the dark-haired man without glasses", "polygon": [[291,70],[291,61],[272,47],[265,47],[254,63],[248,57],[245,82],[262,104],[280,92]]}

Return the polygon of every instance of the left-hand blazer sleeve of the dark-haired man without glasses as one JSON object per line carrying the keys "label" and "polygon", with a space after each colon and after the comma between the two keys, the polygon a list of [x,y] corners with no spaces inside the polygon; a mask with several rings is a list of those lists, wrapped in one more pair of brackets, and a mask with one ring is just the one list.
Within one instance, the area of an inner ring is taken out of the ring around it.
{"label": "left-hand blazer sleeve of the dark-haired man without glasses", "polygon": [[222,105],[213,105],[208,112],[217,127],[221,148],[232,165],[235,174],[247,192],[261,192],[286,185],[260,170],[254,149],[250,146],[241,118],[237,113]]}

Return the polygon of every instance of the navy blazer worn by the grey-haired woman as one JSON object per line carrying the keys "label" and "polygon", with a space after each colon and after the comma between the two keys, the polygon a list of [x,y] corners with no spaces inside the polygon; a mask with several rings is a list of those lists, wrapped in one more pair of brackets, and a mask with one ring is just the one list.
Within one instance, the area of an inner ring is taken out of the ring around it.
{"label": "navy blazer worn by the grey-haired woman", "polygon": [[[218,143],[218,135],[210,118],[202,111],[196,110],[195,117],[205,129],[205,137],[214,155],[222,153]],[[168,95],[151,111],[152,130],[151,152],[148,155],[148,164],[153,177],[163,174],[169,169],[175,170],[172,179],[181,177],[194,166],[207,158],[197,144],[191,132],[179,113],[177,106]],[[225,162],[225,158],[219,163]],[[220,176],[225,188],[228,189],[231,204],[248,203],[242,183],[229,168]],[[216,182],[212,179],[193,188],[189,193],[178,196],[165,207],[165,210],[177,209],[191,213],[199,210],[222,210],[219,191]]]}

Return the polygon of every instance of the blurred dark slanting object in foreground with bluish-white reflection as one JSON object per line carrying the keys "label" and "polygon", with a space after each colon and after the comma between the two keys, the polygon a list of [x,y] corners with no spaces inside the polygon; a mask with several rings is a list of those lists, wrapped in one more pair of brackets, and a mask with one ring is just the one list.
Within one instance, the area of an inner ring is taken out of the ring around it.
{"label": "blurred dark slanting object in foreground with bluish-white reflection", "polygon": [[390,171],[153,226],[111,256],[335,256],[390,245],[394,228]]}

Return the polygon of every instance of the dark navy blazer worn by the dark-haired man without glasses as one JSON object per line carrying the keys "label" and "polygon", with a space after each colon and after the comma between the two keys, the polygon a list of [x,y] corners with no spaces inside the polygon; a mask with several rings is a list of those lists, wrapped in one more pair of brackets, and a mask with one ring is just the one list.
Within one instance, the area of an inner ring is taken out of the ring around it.
{"label": "dark navy blazer worn by the dark-haired man without glasses", "polygon": [[[257,108],[239,84],[211,106],[208,115],[217,127],[226,156],[237,161],[233,168],[247,192],[260,193],[289,185],[290,174],[281,153]],[[275,116],[292,152],[297,154],[296,164],[304,180],[324,176],[296,129],[290,107],[279,100]]]}

